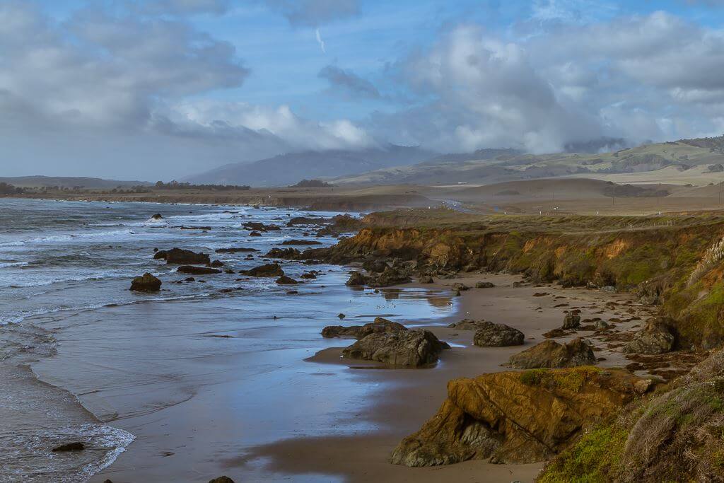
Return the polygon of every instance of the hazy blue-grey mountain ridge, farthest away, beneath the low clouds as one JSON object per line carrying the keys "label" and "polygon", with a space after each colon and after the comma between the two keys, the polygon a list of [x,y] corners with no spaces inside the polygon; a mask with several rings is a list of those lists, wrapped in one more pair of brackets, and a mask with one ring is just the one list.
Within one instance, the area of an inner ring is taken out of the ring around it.
{"label": "hazy blue-grey mountain ridge, farthest away, beneath the low clouds", "polygon": [[406,166],[430,159],[436,153],[414,146],[389,145],[359,151],[303,151],[280,154],[251,163],[226,164],[185,178],[193,183],[251,186],[286,186],[300,180],[355,175],[390,166]]}

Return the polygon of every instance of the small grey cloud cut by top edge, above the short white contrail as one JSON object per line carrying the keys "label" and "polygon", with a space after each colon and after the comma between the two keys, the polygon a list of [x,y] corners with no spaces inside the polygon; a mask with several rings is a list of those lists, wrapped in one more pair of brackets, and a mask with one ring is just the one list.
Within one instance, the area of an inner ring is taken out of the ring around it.
{"label": "small grey cloud cut by top edge, above the short white contrail", "polygon": [[319,28],[359,13],[357,0],[266,0],[266,4],[298,27]]}

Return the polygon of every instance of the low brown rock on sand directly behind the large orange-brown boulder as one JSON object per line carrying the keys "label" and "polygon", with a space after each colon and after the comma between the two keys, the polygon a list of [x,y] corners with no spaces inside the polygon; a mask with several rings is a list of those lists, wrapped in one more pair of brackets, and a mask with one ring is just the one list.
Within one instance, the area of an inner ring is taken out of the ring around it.
{"label": "low brown rock on sand directly behind the large orange-brown boulder", "polygon": [[510,356],[508,366],[513,369],[535,369],[538,367],[561,368],[596,364],[596,357],[586,340],[578,338],[563,345],[554,340],[542,343]]}

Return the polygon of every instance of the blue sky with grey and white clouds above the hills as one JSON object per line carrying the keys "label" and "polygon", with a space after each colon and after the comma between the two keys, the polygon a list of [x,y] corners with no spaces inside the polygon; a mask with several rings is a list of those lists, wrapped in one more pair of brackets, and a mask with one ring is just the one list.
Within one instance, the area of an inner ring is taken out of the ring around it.
{"label": "blue sky with grey and white clouds above the hills", "polygon": [[724,0],[0,0],[0,176],[724,133]]}

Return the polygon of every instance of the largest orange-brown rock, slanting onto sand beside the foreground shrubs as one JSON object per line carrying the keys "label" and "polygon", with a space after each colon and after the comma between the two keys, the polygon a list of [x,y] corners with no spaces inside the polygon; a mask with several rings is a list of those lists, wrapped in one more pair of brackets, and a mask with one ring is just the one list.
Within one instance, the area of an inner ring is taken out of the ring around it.
{"label": "largest orange-brown rock, slanting onto sand beside the foreground shrubs", "polygon": [[623,369],[595,367],[453,379],[437,414],[405,437],[390,460],[406,466],[545,461],[633,400],[638,380]]}

